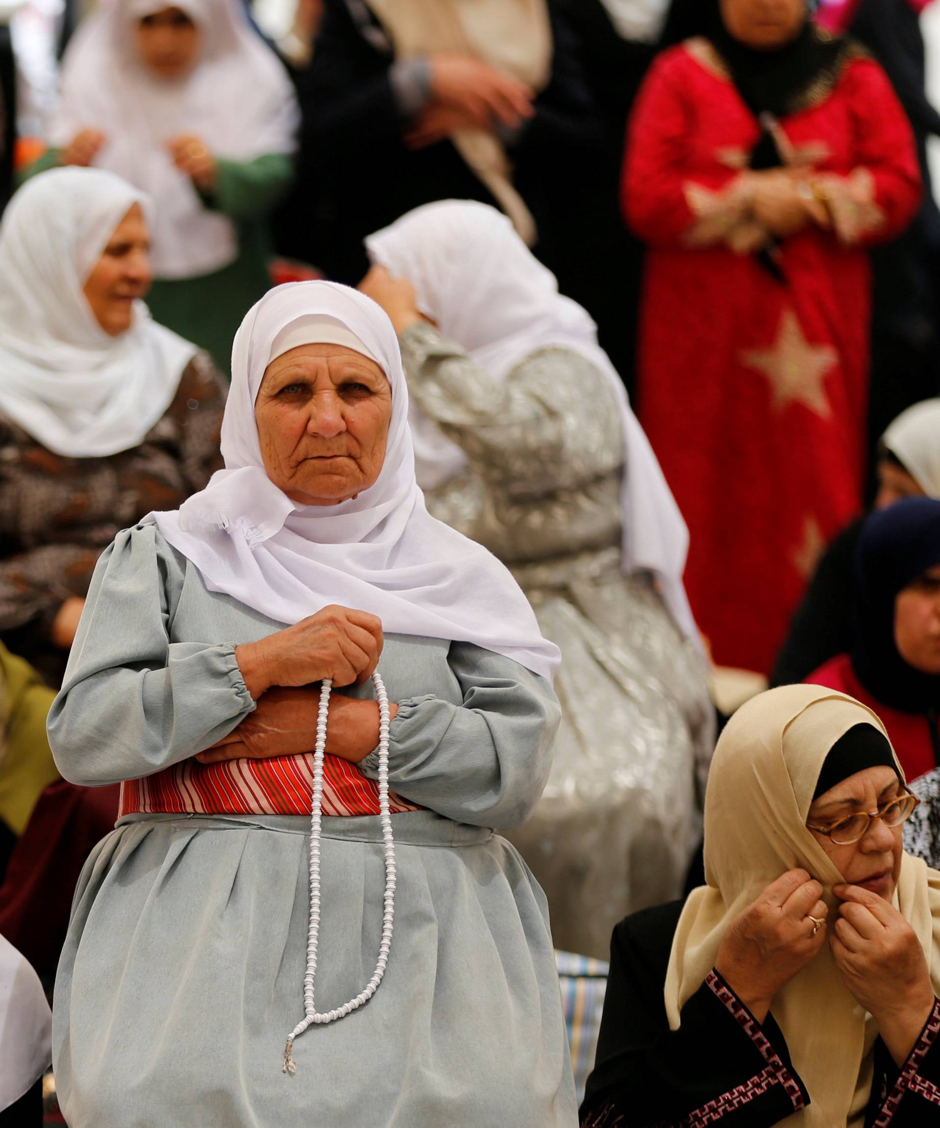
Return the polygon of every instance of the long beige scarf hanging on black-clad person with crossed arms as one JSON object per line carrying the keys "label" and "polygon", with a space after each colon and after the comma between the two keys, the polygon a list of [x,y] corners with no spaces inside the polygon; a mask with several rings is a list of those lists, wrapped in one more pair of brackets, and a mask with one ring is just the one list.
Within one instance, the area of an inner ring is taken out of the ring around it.
{"label": "long beige scarf hanging on black-clad person with crossed arms", "polygon": [[[551,71],[551,24],[546,0],[369,0],[398,59],[472,55],[542,89]],[[494,133],[467,130],[453,143],[531,247],[535,221],[513,185],[506,150]]]}

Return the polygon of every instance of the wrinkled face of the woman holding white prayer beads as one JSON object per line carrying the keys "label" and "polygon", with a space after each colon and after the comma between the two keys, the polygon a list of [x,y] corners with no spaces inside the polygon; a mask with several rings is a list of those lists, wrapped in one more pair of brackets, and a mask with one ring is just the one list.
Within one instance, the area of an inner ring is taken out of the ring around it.
{"label": "wrinkled face of the woman holding white prayer beads", "polygon": [[255,421],[265,470],[300,505],[337,505],[375,483],[385,460],[391,387],[342,345],[300,345],[265,370]]}

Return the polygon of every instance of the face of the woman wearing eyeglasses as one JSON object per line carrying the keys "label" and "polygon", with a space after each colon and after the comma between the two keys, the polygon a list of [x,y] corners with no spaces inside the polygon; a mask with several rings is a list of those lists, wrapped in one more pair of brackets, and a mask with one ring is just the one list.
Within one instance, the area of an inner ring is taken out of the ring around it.
{"label": "face of the woman wearing eyeglasses", "polygon": [[[876,811],[903,792],[904,787],[893,768],[866,768],[815,799],[807,821],[831,827],[860,811]],[[850,885],[861,885],[886,901],[892,899],[904,852],[903,827],[886,827],[880,819],[875,819],[863,837],[848,846],[836,846],[818,830],[809,832]]]}

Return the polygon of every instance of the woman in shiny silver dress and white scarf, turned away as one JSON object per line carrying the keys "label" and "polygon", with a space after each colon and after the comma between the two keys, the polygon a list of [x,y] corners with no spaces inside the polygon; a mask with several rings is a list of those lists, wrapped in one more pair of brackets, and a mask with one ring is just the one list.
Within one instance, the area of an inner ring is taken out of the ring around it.
{"label": "woman in shiny silver dress and white scarf, turned away", "polygon": [[428,509],[507,564],[561,650],[549,785],[513,841],[560,948],[604,957],[677,896],[713,708],[688,536],[594,324],[494,209],[443,202],[366,240],[411,394]]}

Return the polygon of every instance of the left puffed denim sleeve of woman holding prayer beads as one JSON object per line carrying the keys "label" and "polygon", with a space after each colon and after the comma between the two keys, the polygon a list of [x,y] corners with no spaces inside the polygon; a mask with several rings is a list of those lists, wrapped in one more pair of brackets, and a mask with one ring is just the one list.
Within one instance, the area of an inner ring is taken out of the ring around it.
{"label": "left puffed denim sleeve of woman holding prayer beads", "polygon": [[156,526],[124,530],[101,555],[47,722],[71,783],[151,775],[255,708],[233,645],[169,641],[184,575],[184,558]]}

